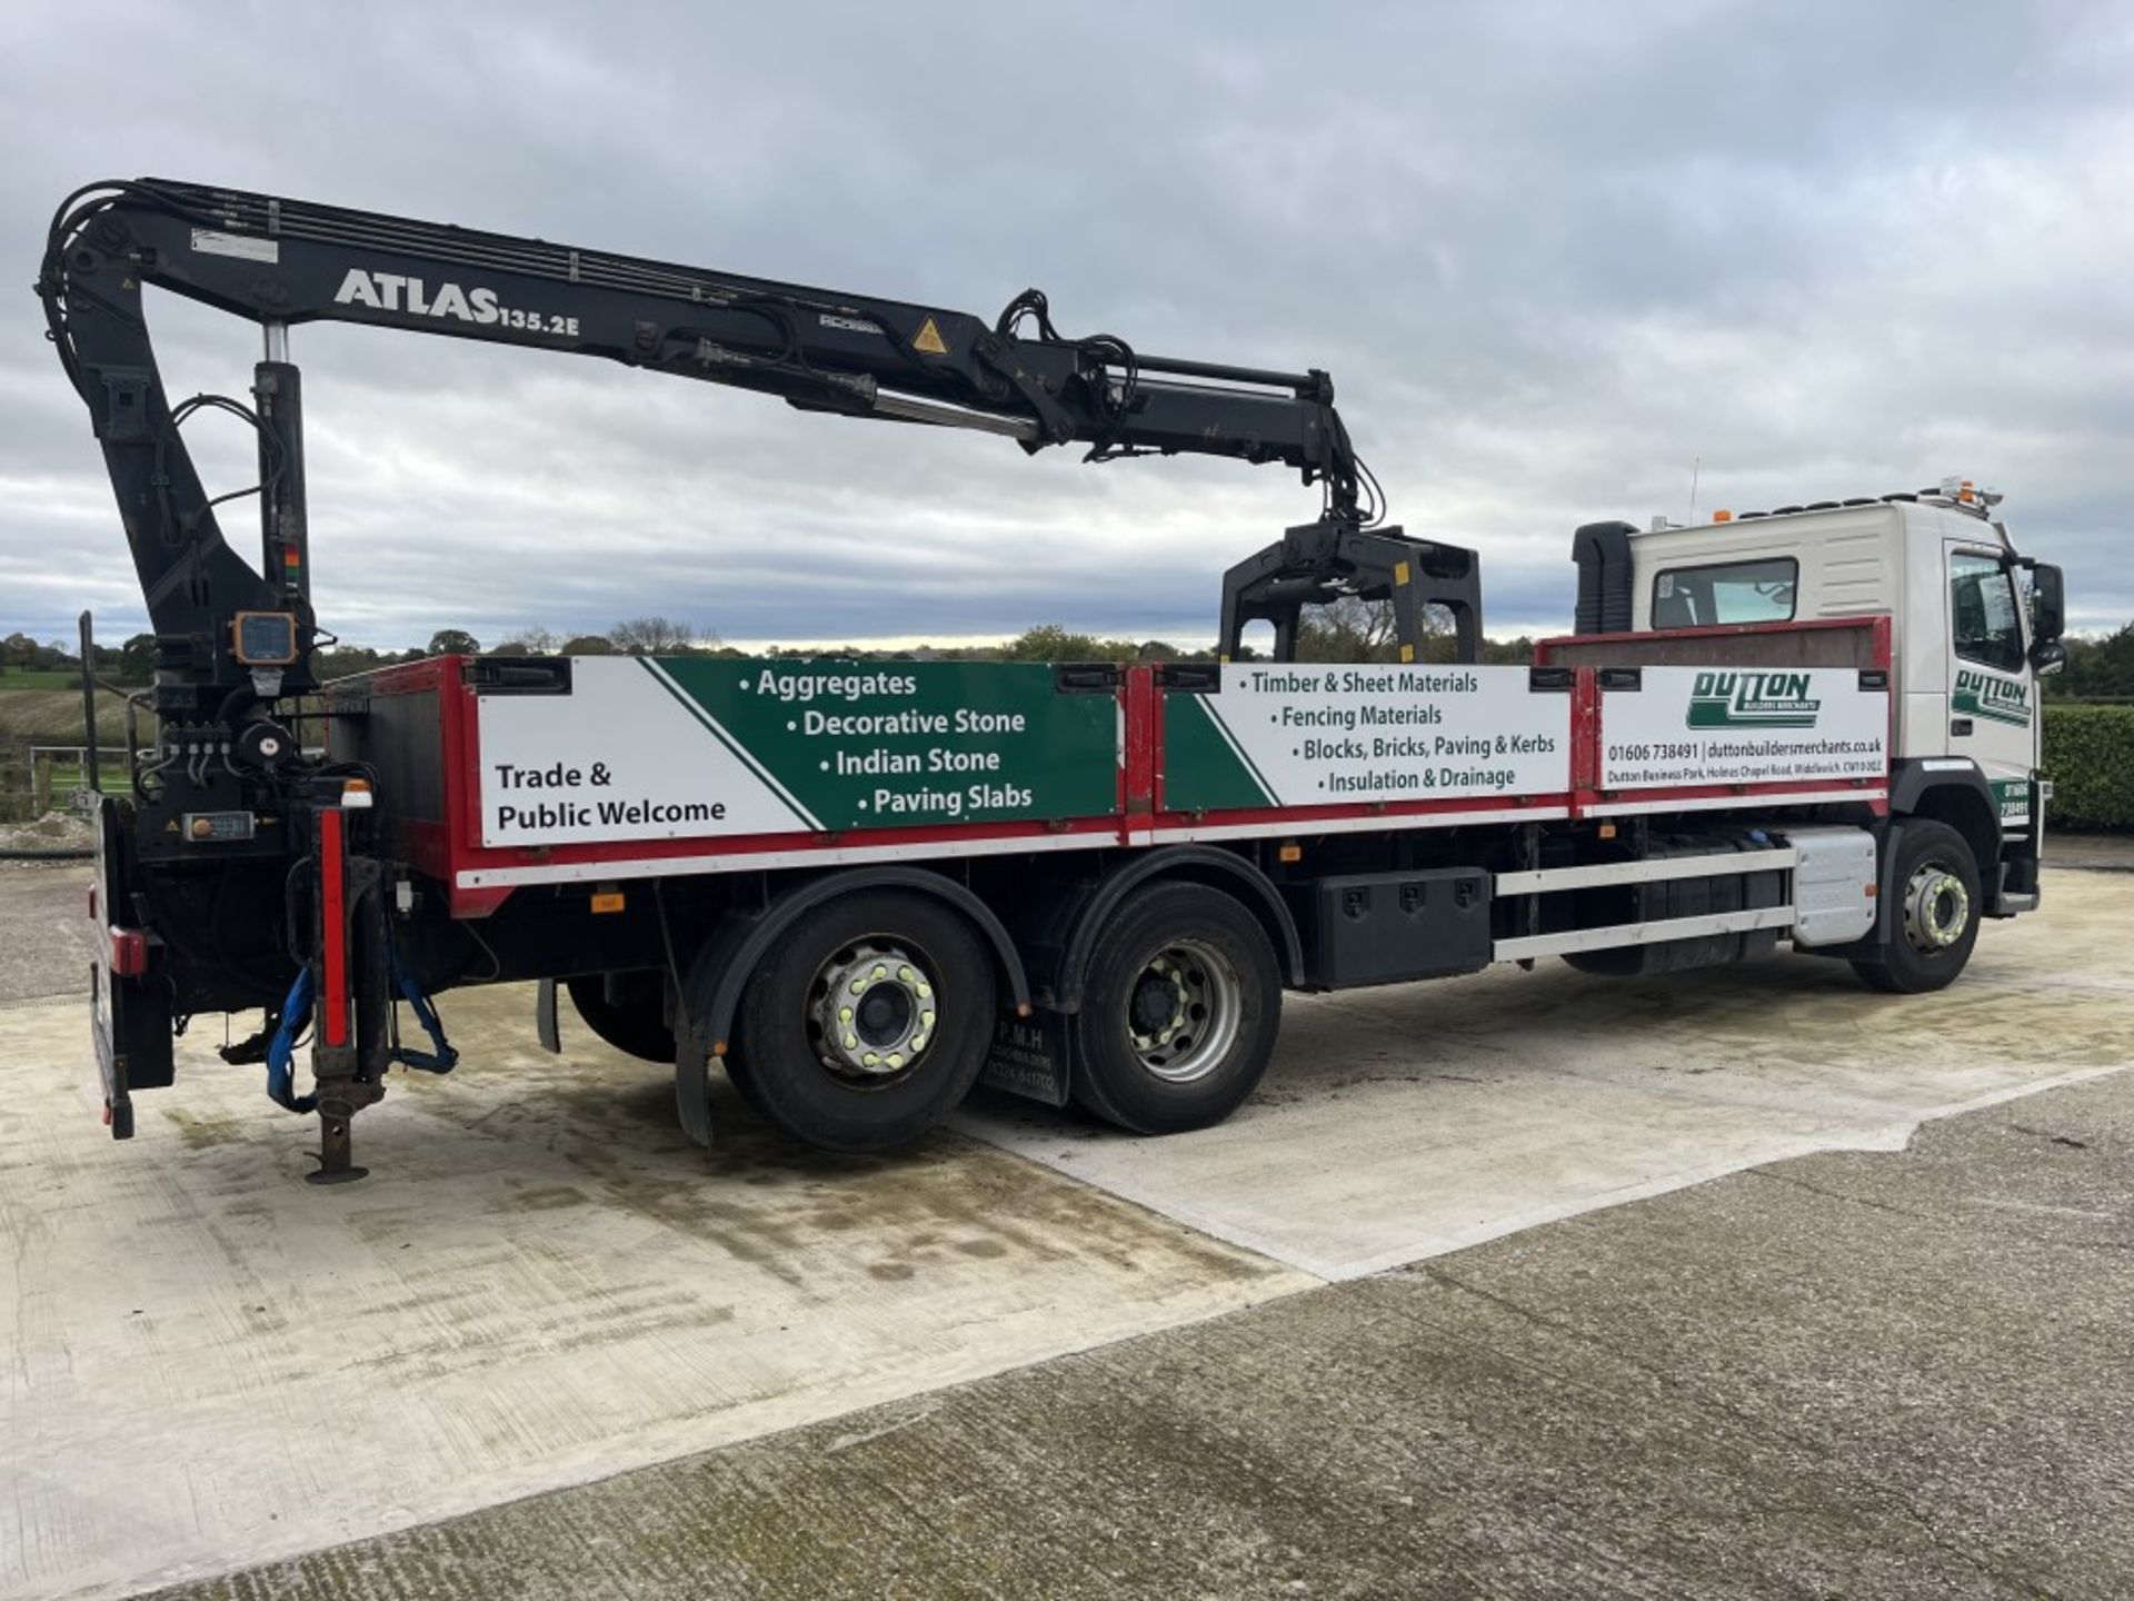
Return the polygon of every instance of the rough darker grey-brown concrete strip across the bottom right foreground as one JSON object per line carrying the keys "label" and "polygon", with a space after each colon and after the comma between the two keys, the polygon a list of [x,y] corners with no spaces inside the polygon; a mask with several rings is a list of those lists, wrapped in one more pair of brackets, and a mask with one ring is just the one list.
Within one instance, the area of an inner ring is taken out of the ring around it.
{"label": "rough darker grey-brown concrete strip across the bottom right foreground", "polygon": [[2121,1601],[2130,1189],[2119,1074],[158,1601]]}

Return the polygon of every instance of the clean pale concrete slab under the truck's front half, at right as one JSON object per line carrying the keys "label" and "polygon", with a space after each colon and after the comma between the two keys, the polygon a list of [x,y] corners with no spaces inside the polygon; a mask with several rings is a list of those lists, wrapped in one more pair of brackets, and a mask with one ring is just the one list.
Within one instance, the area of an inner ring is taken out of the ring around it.
{"label": "clean pale concrete slab under the truck's front half, at right", "polygon": [[1963,980],[1927,999],[1805,956],[1291,999],[1265,1087],[1216,1129],[1120,1140],[1009,1099],[958,1127],[1351,1279],[1758,1161],[1897,1148],[1921,1119],[2117,1069],[2128,931],[2121,879],[2068,873],[2051,916],[1987,924]]}

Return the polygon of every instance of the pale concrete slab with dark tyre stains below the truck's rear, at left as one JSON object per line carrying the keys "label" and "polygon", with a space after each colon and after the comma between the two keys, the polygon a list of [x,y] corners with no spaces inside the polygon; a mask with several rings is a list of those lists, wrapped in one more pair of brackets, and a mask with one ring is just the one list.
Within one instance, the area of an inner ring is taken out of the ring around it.
{"label": "pale concrete slab with dark tyre stains below the truck's rear, at left", "polygon": [[457,999],[499,1044],[365,1114],[346,1189],[299,1183],[309,1125],[198,1035],[113,1144],[81,1005],[0,1012],[0,1592],[305,1550],[1310,1283],[956,1136],[706,1157],[670,1074],[529,1050],[525,1001]]}

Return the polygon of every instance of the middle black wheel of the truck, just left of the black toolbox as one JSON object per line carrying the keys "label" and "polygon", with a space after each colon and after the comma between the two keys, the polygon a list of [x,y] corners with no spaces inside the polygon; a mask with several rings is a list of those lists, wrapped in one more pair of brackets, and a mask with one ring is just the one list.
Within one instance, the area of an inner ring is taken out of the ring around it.
{"label": "middle black wheel of the truck, just left of the black toolbox", "polygon": [[1283,973],[1268,931],[1201,884],[1152,884],[1112,914],[1082,995],[1076,1099],[1135,1134],[1221,1123],[1268,1072]]}

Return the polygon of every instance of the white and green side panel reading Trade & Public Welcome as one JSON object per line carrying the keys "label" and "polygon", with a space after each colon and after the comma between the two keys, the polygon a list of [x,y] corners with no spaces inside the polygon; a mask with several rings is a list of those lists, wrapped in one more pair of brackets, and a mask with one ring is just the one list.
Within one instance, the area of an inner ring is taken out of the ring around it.
{"label": "white and green side panel reading Trade & Public Welcome", "polygon": [[583,657],[482,694],[487,847],[1095,818],[1114,694],[1026,662]]}

